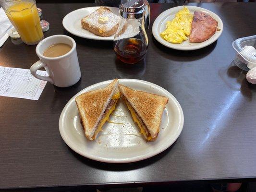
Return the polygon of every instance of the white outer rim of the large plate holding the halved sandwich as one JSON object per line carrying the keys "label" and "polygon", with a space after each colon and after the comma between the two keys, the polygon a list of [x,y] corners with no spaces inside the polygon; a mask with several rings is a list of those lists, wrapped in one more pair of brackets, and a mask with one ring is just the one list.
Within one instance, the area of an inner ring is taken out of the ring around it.
{"label": "white outer rim of the large plate holding the halved sandwich", "polygon": [[153,84],[147,81],[143,81],[143,80],[137,80],[137,79],[119,79],[120,84],[122,84],[123,82],[137,82],[140,84],[145,84],[145,85],[150,85],[150,86],[154,86],[155,88],[157,88],[159,91],[161,91],[162,93],[164,93],[166,96],[168,96],[169,100],[171,99],[175,106],[177,107],[178,111],[179,111],[179,126],[177,128],[177,134],[176,137],[174,137],[174,139],[172,140],[168,140],[167,142],[165,142],[165,145],[163,145],[161,148],[159,148],[159,150],[156,151],[152,151],[151,153],[148,154],[143,154],[141,156],[136,156],[136,157],[130,157],[130,158],[118,158],[118,159],[113,159],[113,158],[104,158],[104,157],[100,157],[100,156],[94,156],[91,154],[86,154],[84,153],[84,151],[79,150],[78,148],[76,148],[75,146],[73,146],[72,142],[70,141],[69,137],[65,134],[64,129],[64,117],[66,115],[66,113],[68,112],[67,108],[69,108],[69,106],[71,105],[71,103],[73,102],[73,100],[75,99],[76,96],[85,93],[89,90],[92,90],[94,88],[97,88],[99,85],[101,84],[110,84],[113,80],[108,80],[108,81],[104,81],[104,82],[100,82],[97,84],[93,84],[91,86],[86,87],[85,89],[81,90],[80,92],[78,92],[75,96],[73,96],[68,103],[65,105],[65,107],[63,108],[62,112],[61,112],[61,116],[59,119],[59,130],[61,133],[61,137],[64,140],[64,142],[76,153],[80,154],[81,156],[85,156],[87,158],[96,160],[96,161],[101,161],[101,162],[106,162],[106,163],[130,163],[130,162],[136,162],[136,161],[140,161],[140,160],[144,160],[147,159],[149,157],[152,156],[156,156],[159,153],[163,152],[164,150],[166,150],[167,148],[169,148],[179,137],[179,135],[181,134],[182,130],[183,130],[183,124],[184,124],[184,116],[183,116],[183,110],[179,104],[179,102],[177,101],[177,99],[171,95],[171,93],[169,93],[167,90],[165,90],[164,88],[158,86],[157,84]]}

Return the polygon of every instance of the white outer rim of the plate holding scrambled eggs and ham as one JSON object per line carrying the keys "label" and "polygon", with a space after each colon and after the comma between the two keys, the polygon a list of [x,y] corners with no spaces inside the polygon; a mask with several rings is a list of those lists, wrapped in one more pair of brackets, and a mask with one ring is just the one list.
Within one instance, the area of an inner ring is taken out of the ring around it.
{"label": "white outer rim of the plate holding scrambled eggs and ham", "polygon": [[167,15],[170,15],[170,12],[183,9],[183,7],[184,6],[173,7],[171,9],[168,9],[168,10],[162,12],[160,15],[158,15],[157,19],[155,20],[155,22],[152,26],[152,33],[153,33],[153,36],[157,39],[157,41],[159,43],[161,43],[162,45],[164,45],[168,48],[173,48],[173,49],[177,49],[177,50],[195,50],[195,49],[207,47],[208,45],[212,44],[219,38],[219,36],[221,35],[221,33],[223,31],[223,23],[222,23],[221,19],[219,18],[219,16],[217,14],[215,14],[214,12],[211,12],[207,9],[204,9],[201,7],[196,7],[196,6],[186,5],[185,7],[187,7],[189,10],[193,9],[193,10],[197,10],[197,11],[204,11],[204,12],[208,13],[210,16],[214,16],[215,18],[217,18],[218,19],[218,28],[220,28],[220,31],[218,31],[218,34],[216,36],[211,36],[206,41],[201,42],[201,43],[196,43],[197,45],[193,45],[191,47],[183,47],[183,46],[181,46],[182,44],[174,44],[174,43],[169,43],[169,42],[165,41],[160,36],[160,33],[158,31],[158,25],[161,24],[162,20]]}

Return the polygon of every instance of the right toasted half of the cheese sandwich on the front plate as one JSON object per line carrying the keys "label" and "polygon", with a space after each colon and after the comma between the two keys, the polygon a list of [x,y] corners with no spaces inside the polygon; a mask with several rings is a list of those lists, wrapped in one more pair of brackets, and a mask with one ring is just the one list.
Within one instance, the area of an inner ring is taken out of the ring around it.
{"label": "right toasted half of the cheese sandwich on the front plate", "polygon": [[135,91],[122,84],[119,85],[119,90],[146,141],[154,141],[158,136],[162,113],[169,99],[165,96]]}

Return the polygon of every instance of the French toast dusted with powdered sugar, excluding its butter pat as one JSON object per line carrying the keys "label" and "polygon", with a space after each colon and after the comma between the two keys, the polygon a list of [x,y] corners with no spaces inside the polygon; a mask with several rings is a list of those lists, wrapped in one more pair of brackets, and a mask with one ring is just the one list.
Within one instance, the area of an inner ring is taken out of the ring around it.
{"label": "French toast dusted with powdered sugar, excluding its butter pat", "polygon": [[[100,16],[108,17],[106,24],[98,23]],[[82,28],[92,32],[97,36],[112,36],[116,33],[119,25],[119,16],[110,11],[107,7],[100,7],[95,12],[87,15],[81,20]]]}

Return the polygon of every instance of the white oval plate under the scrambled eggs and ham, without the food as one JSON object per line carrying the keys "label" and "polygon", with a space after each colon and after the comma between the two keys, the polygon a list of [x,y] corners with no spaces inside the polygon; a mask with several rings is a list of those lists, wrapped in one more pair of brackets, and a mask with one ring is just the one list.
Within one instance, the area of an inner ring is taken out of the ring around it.
{"label": "white oval plate under the scrambled eggs and ham, without the food", "polygon": [[204,42],[201,43],[189,43],[189,39],[186,41],[183,41],[181,44],[175,44],[175,43],[169,43],[168,41],[164,40],[161,36],[160,33],[162,33],[165,30],[165,24],[167,21],[171,21],[174,19],[175,14],[182,10],[184,6],[178,6],[178,7],[173,7],[171,9],[168,9],[164,12],[162,12],[160,15],[158,15],[157,19],[155,20],[153,26],[152,26],[152,33],[153,36],[157,39],[159,43],[162,45],[168,47],[168,48],[173,48],[177,50],[195,50],[199,48],[204,48],[210,44],[212,44],[214,41],[216,41],[219,36],[221,35],[223,31],[223,23],[219,16],[215,14],[214,12],[211,12],[207,9],[201,8],[201,7],[196,7],[196,6],[185,6],[189,9],[189,11],[194,14],[195,11],[202,11],[206,12],[209,14],[213,19],[215,19],[218,22],[218,27],[220,31],[216,31],[216,33],[211,36],[209,39],[207,39]]}

